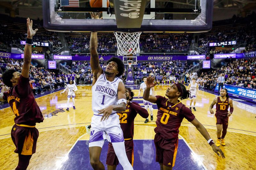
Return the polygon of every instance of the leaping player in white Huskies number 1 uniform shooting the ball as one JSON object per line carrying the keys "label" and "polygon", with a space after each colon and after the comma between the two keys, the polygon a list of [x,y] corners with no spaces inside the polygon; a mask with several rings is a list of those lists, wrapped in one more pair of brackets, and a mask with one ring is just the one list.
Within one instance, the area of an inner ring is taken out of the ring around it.
{"label": "leaping player in white Huskies number 1 uniform shooting the ball", "polygon": [[[92,19],[99,19],[100,13],[91,13]],[[124,73],[121,59],[112,57],[107,62],[106,70],[100,67],[97,52],[97,33],[91,33],[90,53],[92,67],[92,111],[91,134],[89,140],[90,163],[93,169],[103,170],[100,152],[105,139],[112,142],[116,156],[124,170],[131,170],[127,159],[123,131],[116,112],[125,111],[126,96],[123,81],[118,78]]]}

